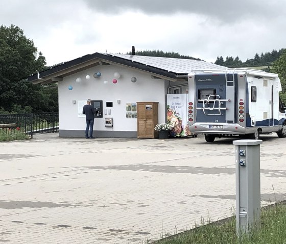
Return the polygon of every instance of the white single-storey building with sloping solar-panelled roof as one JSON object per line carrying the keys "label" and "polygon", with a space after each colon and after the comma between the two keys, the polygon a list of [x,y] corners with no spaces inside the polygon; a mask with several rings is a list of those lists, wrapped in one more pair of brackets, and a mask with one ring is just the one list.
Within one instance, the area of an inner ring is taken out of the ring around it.
{"label": "white single-storey building with sloping solar-panelled roof", "polygon": [[[137,102],[158,102],[158,122],[164,123],[166,94],[188,93],[186,75],[191,70],[219,68],[224,67],[189,59],[96,52],[28,80],[58,83],[60,137],[84,137],[82,106],[91,99],[102,101],[102,114],[94,120],[94,137],[136,138]],[[112,127],[106,127],[106,118],[113,118]]]}

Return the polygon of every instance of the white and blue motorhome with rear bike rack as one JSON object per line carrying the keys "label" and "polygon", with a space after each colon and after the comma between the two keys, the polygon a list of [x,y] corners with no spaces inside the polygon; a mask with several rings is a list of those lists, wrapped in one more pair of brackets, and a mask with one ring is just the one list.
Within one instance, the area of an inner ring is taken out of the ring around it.
{"label": "white and blue motorhome with rear bike rack", "polygon": [[188,126],[215,138],[276,132],[286,137],[286,118],[277,74],[251,69],[194,70],[188,74]]}

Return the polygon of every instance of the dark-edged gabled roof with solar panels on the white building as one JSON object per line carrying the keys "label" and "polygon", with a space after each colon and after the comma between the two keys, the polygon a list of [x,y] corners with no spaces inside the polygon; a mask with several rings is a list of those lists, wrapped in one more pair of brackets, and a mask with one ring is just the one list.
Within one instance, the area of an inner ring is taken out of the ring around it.
{"label": "dark-edged gabled roof with solar panels on the white building", "polygon": [[[51,76],[57,72],[76,67],[85,62],[92,60],[110,61],[113,63],[127,65],[133,68],[152,72],[157,75],[162,75],[169,78],[176,78],[176,75],[187,75],[192,70],[209,70],[225,68],[220,65],[207,63],[205,61],[191,60],[191,59],[175,59],[162,57],[147,57],[147,56],[133,56],[122,54],[110,54],[95,52],[93,54],[85,55],[83,57],[59,64],[50,69],[41,71],[39,73],[40,79],[46,76]],[[67,71],[68,73],[69,71]],[[29,82],[39,80],[38,74],[33,74],[28,77]]]}

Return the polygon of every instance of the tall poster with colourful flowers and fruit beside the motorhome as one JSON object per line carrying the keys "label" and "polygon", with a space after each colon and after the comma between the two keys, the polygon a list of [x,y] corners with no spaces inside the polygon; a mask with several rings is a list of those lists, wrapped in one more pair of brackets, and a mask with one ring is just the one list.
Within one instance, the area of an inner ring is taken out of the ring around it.
{"label": "tall poster with colourful flowers and fruit beside the motorhome", "polygon": [[187,94],[167,94],[167,121],[173,137],[190,135],[187,117]]}

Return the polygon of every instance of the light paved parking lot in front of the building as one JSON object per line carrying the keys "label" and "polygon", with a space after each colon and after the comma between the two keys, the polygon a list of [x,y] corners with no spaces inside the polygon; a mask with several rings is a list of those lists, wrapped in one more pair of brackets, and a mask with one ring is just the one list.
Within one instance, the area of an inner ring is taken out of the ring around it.
{"label": "light paved parking lot in front of the building", "polygon": [[[261,204],[285,200],[286,139],[263,136]],[[0,143],[0,243],[145,243],[235,209],[231,139]]]}

